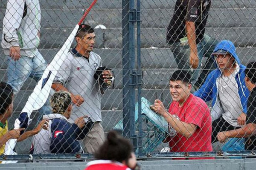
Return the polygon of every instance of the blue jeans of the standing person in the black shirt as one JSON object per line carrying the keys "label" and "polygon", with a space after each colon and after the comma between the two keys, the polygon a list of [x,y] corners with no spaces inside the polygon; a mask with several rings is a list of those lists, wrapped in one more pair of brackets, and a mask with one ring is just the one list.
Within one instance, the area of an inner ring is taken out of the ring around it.
{"label": "blue jeans of the standing person in the black shirt", "polygon": [[[192,85],[197,85],[200,87],[204,82],[204,79],[207,77],[210,71],[216,68],[213,64],[214,59],[212,59],[211,54],[217,45],[218,41],[209,37],[208,35],[204,35],[204,39],[201,40],[197,45],[198,49],[198,58],[199,65],[197,69],[192,69],[189,64],[189,56],[190,56],[190,47],[189,45],[180,45],[180,42],[174,42],[171,44],[170,48],[175,57],[175,61],[177,63],[177,68],[182,70],[190,71],[191,83]],[[207,62],[204,65],[203,69],[201,69],[202,58],[207,57]]]}

